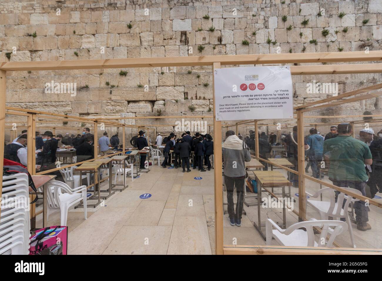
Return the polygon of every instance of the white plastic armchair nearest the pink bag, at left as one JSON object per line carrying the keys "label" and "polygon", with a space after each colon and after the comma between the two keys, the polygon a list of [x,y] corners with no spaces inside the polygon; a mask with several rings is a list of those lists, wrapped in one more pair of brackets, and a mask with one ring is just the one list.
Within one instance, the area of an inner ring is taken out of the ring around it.
{"label": "white plastic armchair nearest the pink bag, at left", "polygon": [[[48,183],[48,210],[60,209],[61,225],[66,226],[68,219],[68,210],[83,200],[85,220],[86,211],[86,185],[77,188],[70,188],[67,184],[58,180],[51,180]],[[49,211],[47,212],[49,214]]]}

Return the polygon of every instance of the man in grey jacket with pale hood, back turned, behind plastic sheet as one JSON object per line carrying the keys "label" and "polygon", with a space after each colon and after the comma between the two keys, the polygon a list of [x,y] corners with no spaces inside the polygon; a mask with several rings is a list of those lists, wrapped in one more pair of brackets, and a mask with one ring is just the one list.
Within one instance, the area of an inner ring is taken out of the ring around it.
{"label": "man in grey jacket with pale hood, back turned, behind plastic sheet", "polygon": [[[243,213],[245,162],[251,161],[248,146],[233,131],[225,133],[226,140],[222,144],[224,161],[224,183],[227,188],[228,214],[231,226],[241,226]],[[233,207],[233,190],[236,187],[236,215]]]}

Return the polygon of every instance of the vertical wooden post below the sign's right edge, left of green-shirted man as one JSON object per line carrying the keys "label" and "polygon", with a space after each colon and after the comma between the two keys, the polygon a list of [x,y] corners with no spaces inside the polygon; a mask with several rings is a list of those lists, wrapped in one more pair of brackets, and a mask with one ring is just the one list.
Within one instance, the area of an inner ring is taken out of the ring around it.
{"label": "vertical wooden post below the sign's right edge, left of green-shirted man", "polygon": [[304,150],[304,113],[297,110],[297,152],[298,152],[298,215],[299,221],[305,219],[306,195],[305,195],[305,150]]}

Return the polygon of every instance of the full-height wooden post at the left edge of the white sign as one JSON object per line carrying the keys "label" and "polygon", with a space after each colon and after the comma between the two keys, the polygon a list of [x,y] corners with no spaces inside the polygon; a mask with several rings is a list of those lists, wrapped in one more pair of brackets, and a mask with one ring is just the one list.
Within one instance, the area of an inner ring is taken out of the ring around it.
{"label": "full-height wooden post at the left edge of the white sign", "polygon": [[220,68],[220,62],[214,62],[212,67],[214,91],[214,183],[215,183],[215,253],[223,255],[223,180],[222,180],[222,122],[216,121],[215,69]]}

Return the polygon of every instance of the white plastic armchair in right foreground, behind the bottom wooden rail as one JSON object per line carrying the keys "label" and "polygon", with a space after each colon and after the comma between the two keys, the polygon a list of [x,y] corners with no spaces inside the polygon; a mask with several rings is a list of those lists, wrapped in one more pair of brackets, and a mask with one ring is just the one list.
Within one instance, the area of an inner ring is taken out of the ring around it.
{"label": "white plastic armchair in right foreground, behind the bottom wooden rail", "polygon": [[[314,226],[321,229],[318,243],[314,240]],[[334,229],[332,228],[333,226],[335,227]],[[274,237],[283,246],[332,248],[335,237],[346,231],[347,227],[348,225],[344,221],[317,221],[312,219],[292,224],[287,229],[281,229],[272,219],[265,221],[267,245],[272,245],[271,241],[272,237]],[[304,228],[306,231],[299,228]],[[329,240],[326,239],[328,234],[330,234]]]}

